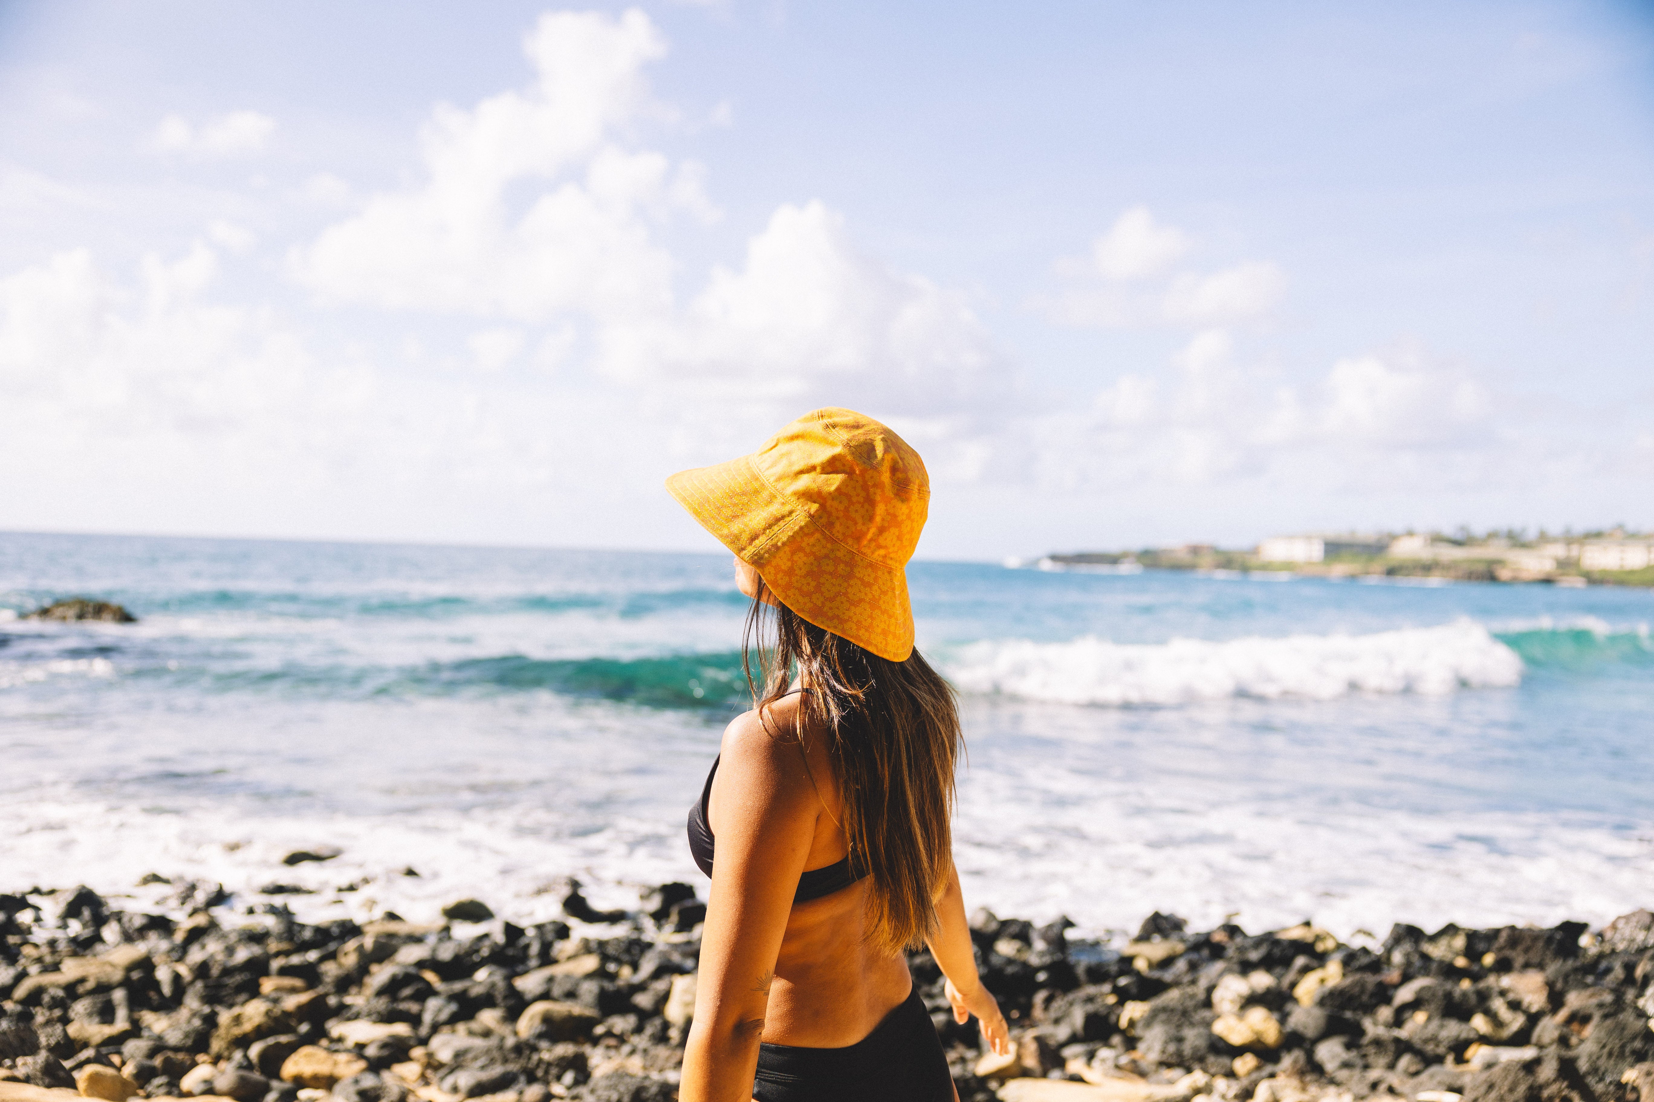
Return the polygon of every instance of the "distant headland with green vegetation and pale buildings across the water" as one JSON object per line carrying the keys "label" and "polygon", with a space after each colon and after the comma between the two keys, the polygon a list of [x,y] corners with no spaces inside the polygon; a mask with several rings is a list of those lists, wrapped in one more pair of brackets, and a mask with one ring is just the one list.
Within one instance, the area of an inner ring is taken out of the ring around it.
{"label": "distant headland with green vegetation and pale buildings across the water", "polygon": [[1252,549],[1211,544],[1120,552],[1054,553],[1045,570],[1236,570],[1310,577],[1439,578],[1444,582],[1546,582],[1654,588],[1654,537],[1623,527],[1575,535],[1512,529],[1474,535],[1460,529],[1373,535],[1284,535]]}

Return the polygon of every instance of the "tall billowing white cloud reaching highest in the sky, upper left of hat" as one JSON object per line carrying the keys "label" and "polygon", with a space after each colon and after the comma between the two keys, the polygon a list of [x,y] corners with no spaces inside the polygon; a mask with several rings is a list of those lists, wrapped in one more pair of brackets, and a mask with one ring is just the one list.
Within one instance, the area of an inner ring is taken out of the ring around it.
{"label": "tall billowing white cloud reaching highest in the sky, upper left of hat", "polygon": [[[672,258],[650,218],[716,211],[698,165],[610,137],[650,111],[642,69],[665,50],[637,10],[541,17],[524,40],[536,81],[471,111],[438,107],[425,182],[370,197],[298,249],[293,271],[339,301],[524,322],[665,309]],[[518,210],[508,190],[526,182],[543,190]]]}

